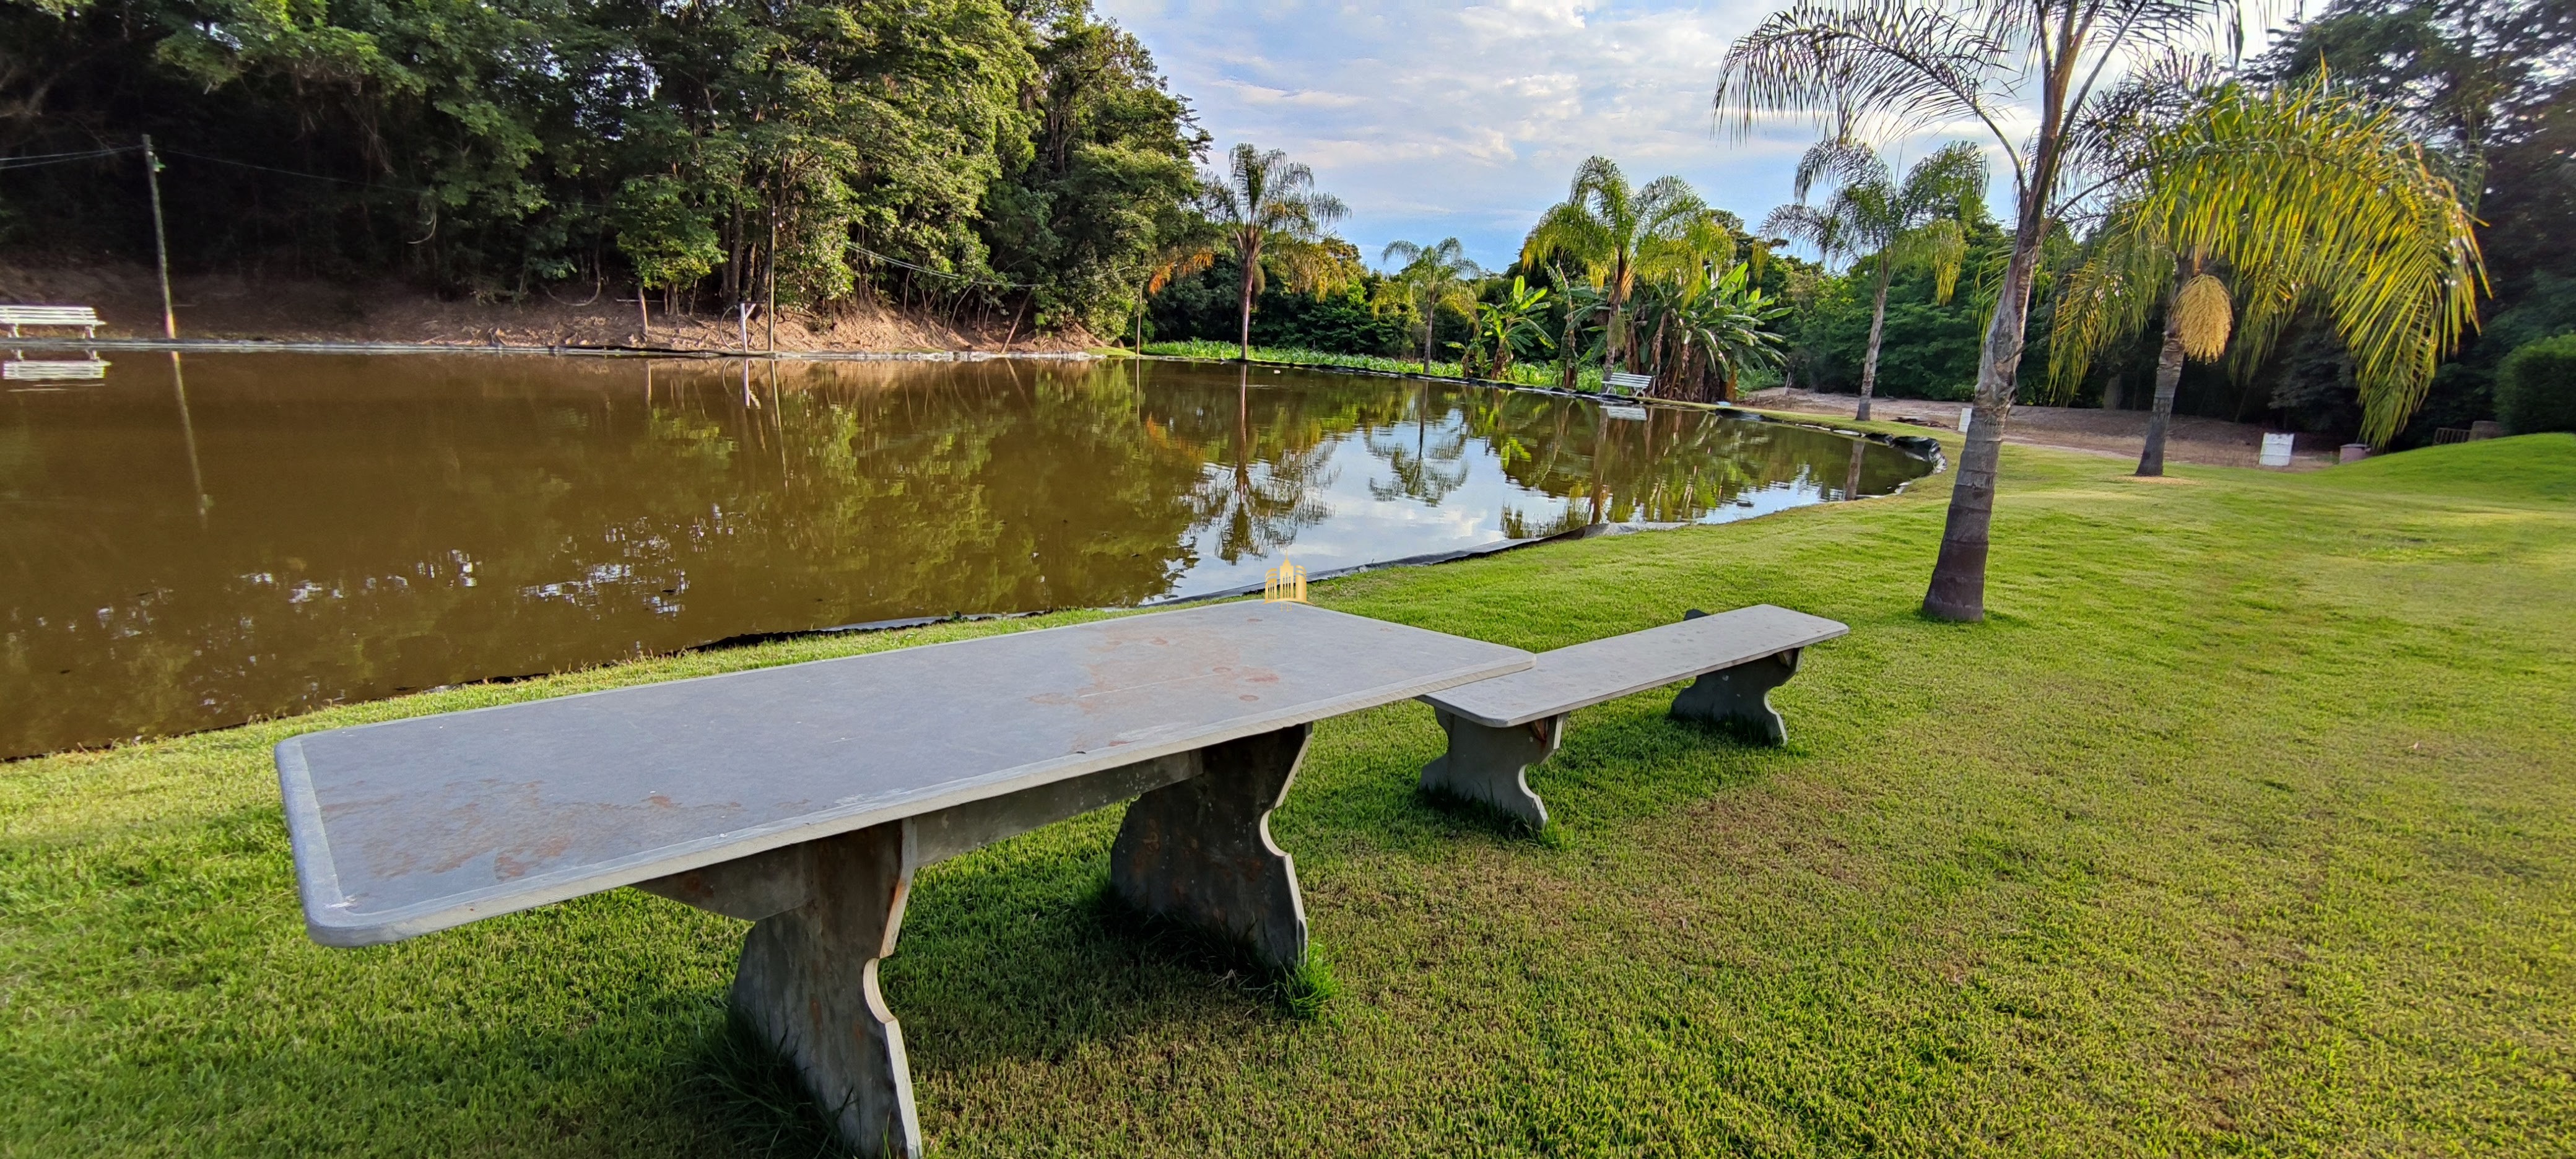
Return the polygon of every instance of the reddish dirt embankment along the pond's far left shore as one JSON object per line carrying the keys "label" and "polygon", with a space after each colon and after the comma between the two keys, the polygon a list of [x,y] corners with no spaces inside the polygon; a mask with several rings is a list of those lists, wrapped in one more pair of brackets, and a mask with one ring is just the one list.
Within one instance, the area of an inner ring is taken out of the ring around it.
{"label": "reddish dirt embankment along the pond's far left shore", "polygon": [[[397,281],[332,283],[234,276],[173,278],[180,337],[268,337],[294,343],[435,345],[639,345],[739,350],[734,314],[636,312],[634,288],[574,296],[538,291],[523,301],[438,299]],[[21,268],[0,263],[0,301],[95,306],[106,337],[162,337],[160,281],[149,268]],[[1007,319],[1005,319],[1007,322]],[[778,350],[1079,350],[1087,335],[1030,335],[1005,322],[951,322],[884,304],[832,314],[778,314]],[[768,348],[768,322],[752,314],[752,348]]]}

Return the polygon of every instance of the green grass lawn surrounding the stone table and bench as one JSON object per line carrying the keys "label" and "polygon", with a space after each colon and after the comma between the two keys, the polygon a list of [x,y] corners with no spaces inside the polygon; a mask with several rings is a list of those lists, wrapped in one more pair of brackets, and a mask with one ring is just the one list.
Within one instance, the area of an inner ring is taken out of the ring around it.
{"label": "green grass lawn surrounding the stone table and bench", "polygon": [[[1528,649],[1852,634],[1785,749],[1577,713],[1548,840],[1414,791],[1430,708],[1321,724],[1273,824],[1319,1017],[1095,901],[1115,809],[925,871],[884,979],[935,1151],[2576,1154],[2576,438],[2123,471],[2004,448],[1981,626],[1914,613],[1947,476],[1319,585]],[[317,948],[268,747],[1023,626],[0,765],[0,1154],[811,1154],[726,1030],[739,922]]]}

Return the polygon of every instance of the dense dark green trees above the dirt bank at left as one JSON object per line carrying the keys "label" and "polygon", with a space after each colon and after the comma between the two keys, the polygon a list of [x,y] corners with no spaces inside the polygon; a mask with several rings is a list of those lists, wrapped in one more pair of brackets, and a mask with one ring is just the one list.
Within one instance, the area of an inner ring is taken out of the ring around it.
{"label": "dense dark green trees above the dirt bank at left", "polygon": [[5,0],[10,250],[1121,330],[1206,137],[1087,0]]}

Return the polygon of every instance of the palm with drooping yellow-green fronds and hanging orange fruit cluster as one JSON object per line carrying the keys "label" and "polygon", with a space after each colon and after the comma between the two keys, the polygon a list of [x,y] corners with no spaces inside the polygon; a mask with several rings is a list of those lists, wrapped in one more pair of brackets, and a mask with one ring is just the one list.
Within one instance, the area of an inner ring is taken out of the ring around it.
{"label": "palm with drooping yellow-green fronds and hanging orange fruit cluster", "polygon": [[[2424,147],[2393,113],[2324,85],[2221,85],[2146,152],[2154,165],[2123,185],[2058,294],[2048,343],[2058,391],[2161,304],[2138,474],[2164,474],[2182,361],[2215,361],[2233,332],[2249,368],[2313,304],[2352,350],[2362,438],[2393,438],[2424,402],[2434,363],[2476,325],[2483,281],[2460,191]],[[2228,281],[2246,301],[2244,327]]]}

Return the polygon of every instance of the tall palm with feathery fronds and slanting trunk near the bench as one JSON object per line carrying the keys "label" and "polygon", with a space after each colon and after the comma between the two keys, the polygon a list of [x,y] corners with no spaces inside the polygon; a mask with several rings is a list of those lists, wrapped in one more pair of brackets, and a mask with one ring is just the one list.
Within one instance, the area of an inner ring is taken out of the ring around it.
{"label": "tall palm with feathery fronds and slanting trunk near the bench", "polygon": [[1716,108],[1739,134],[1770,111],[1816,113],[1834,137],[1973,121],[2012,162],[2012,258],[1986,322],[1976,425],[1950,487],[1924,616],[1986,618],[1994,474],[2040,245],[2074,203],[2094,196],[2069,175],[2120,162],[2102,149],[2115,134],[2097,131],[2117,108],[2094,85],[2123,72],[2154,75],[2213,33],[2241,46],[2239,15],[2241,0],[1795,0],[1726,49]]}

